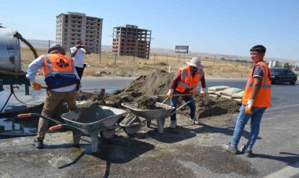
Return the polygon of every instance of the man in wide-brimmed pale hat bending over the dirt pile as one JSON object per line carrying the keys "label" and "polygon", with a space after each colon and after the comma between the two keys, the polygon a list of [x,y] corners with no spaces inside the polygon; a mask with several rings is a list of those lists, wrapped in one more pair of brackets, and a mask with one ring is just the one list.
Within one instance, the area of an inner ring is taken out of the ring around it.
{"label": "man in wide-brimmed pale hat bending over the dirt pile", "polygon": [[[189,102],[189,120],[192,120],[193,124],[199,124],[199,121],[195,117],[196,106],[194,103],[193,93],[196,87],[201,81],[201,95],[205,95],[208,92],[206,88],[206,80],[204,79],[204,66],[201,65],[201,60],[198,57],[192,58],[190,62],[186,62],[188,66],[179,68],[177,74],[174,76],[172,83],[169,86],[167,97],[170,98],[170,105],[177,108],[177,100],[181,94],[185,102]],[[189,94],[189,95],[188,95]],[[177,127],[177,115],[170,116],[169,128],[174,129]]]}

